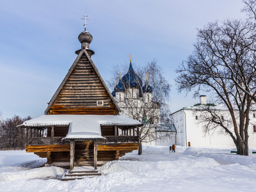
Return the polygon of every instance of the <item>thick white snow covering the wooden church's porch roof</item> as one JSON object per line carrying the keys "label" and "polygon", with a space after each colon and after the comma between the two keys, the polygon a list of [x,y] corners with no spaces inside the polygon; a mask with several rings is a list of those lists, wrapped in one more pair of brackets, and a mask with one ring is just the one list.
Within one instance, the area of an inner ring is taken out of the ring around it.
{"label": "thick white snow covering the wooden church's porch roof", "polygon": [[100,125],[141,125],[141,122],[120,115],[42,115],[27,120],[21,126],[45,127],[52,125],[69,125],[65,140],[103,139]]}

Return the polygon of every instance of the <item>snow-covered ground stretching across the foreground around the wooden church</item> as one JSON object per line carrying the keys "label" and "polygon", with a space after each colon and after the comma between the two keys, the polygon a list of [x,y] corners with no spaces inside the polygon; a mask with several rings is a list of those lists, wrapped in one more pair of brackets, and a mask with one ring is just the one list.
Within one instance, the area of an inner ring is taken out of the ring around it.
{"label": "snow-covered ground stretching across the foreground around the wooden church", "polygon": [[0,151],[0,191],[256,191],[256,154],[230,150],[149,146],[104,164],[99,177],[65,182],[62,168],[40,167],[44,159]]}

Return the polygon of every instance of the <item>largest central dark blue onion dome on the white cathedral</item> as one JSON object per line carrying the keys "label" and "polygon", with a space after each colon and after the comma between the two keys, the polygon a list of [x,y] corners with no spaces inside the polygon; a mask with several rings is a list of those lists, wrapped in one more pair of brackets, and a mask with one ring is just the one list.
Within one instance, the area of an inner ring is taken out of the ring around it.
{"label": "largest central dark blue onion dome on the white cathedral", "polygon": [[122,82],[124,83],[125,88],[141,88],[142,86],[142,81],[140,77],[134,72],[131,61],[127,74],[122,77]]}

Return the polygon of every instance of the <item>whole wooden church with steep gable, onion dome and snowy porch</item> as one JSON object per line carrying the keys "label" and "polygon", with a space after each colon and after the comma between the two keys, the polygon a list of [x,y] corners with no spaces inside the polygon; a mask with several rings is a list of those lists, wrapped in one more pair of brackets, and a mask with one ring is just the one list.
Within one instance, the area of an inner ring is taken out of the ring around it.
{"label": "whole wooden church with steep gable, onion dome and snowy porch", "polygon": [[97,165],[138,149],[141,122],[120,113],[91,59],[92,35],[86,28],[78,39],[81,42],[81,49],[76,51],[78,56],[45,115],[20,126],[26,128],[26,152],[46,157],[45,166],[97,169]]}

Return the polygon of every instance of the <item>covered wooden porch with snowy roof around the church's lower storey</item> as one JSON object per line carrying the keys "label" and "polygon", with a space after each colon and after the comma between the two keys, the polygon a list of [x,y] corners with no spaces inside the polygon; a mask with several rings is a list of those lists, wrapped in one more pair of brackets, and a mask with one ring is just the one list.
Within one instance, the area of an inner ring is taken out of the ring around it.
{"label": "covered wooden porch with snowy roof around the church's lower storey", "polygon": [[124,115],[43,115],[20,126],[26,128],[26,152],[47,157],[49,166],[72,170],[84,165],[97,169],[138,149],[140,125]]}

